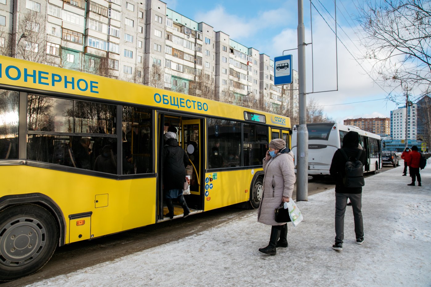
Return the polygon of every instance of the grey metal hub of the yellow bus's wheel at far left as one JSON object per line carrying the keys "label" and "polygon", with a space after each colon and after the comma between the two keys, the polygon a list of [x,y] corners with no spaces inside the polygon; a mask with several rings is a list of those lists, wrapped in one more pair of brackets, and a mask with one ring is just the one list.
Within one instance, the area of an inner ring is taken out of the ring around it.
{"label": "grey metal hub of the yellow bus's wheel at far left", "polygon": [[38,256],[45,246],[45,228],[34,218],[14,218],[1,229],[0,263],[24,265]]}

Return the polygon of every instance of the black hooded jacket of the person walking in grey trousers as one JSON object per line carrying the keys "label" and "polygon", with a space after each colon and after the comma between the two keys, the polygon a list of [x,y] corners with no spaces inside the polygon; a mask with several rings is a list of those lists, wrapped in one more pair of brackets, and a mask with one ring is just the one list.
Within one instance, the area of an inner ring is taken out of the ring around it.
{"label": "black hooded jacket of the person walking in grey trousers", "polygon": [[[347,153],[350,158],[353,156],[356,158],[359,153],[359,134],[356,131],[349,131],[343,138],[343,150]],[[362,150],[360,161],[365,165],[367,156],[366,151]],[[344,187],[343,176],[346,168],[346,158],[341,153],[340,149],[336,150],[332,157],[331,168],[329,173],[335,180],[335,192],[338,193],[361,193],[362,187]]]}

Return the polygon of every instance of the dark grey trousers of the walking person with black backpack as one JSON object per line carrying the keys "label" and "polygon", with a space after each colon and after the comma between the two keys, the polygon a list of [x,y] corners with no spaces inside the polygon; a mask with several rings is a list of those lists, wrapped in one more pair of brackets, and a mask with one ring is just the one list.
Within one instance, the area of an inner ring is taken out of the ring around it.
{"label": "dark grey trousers of the walking person with black backpack", "polygon": [[355,220],[356,238],[364,237],[362,224],[362,193],[335,193],[335,242],[344,240],[344,213],[346,212],[347,198],[350,199]]}

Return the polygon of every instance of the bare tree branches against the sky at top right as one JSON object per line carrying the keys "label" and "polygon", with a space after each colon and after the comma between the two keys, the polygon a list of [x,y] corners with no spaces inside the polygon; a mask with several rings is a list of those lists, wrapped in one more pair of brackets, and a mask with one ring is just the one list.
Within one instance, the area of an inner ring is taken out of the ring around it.
{"label": "bare tree branches against the sky at top right", "polygon": [[[362,3],[362,2],[361,2]],[[431,85],[431,11],[429,0],[366,0],[358,21],[365,32],[364,59],[375,64],[372,72],[384,85],[418,87],[423,94]],[[397,81],[388,81],[396,79]],[[395,96],[396,98],[397,96]],[[394,97],[389,97],[395,100]]]}

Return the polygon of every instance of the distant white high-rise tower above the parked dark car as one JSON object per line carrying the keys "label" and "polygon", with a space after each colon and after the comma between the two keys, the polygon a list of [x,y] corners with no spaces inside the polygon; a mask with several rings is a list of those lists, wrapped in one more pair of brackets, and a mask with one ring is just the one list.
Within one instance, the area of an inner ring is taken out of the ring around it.
{"label": "distant white high-rise tower above the parked dark car", "polygon": [[[390,111],[390,136],[393,140],[415,140],[417,135],[417,104],[399,107]],[[407,137],[406,137],[407,115]]]}

